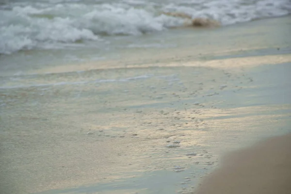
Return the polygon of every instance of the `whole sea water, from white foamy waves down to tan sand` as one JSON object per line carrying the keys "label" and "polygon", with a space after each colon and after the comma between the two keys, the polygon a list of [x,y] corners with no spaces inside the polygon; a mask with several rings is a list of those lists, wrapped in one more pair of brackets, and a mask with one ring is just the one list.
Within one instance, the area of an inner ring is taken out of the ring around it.
{"label": "whole sea water, from white foamy waves down to tan sand", "polygon": [[288,0],[1,2],[4,193],[174,194],[290,131],[290,17],[248,22]]}

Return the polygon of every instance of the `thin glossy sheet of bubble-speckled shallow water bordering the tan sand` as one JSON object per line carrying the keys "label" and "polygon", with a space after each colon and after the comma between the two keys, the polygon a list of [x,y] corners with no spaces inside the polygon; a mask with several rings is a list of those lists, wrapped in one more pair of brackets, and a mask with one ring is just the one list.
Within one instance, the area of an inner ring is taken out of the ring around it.
{"label": "thin glossy sheet of bubble-speckled shallow water bordering the tan sand", "polygon": [[0,90],[4,193],[190,190],[226,150],[290,131],[288,72],[290,63],[10,78]]}

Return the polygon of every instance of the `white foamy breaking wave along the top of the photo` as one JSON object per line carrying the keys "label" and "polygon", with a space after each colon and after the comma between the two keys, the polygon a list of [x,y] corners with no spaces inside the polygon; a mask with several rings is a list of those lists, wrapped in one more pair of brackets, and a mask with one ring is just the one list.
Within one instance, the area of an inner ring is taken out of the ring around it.
{"label": "white foamy breaking wave along the top of the photo", "polygon": [[0,4],[0,53],[90,41],[98,44],[104,35],[141,35],[183,25],[184,18],[162,12],[181,12],[230,25],[288,15],[291,1],[16,0]]}

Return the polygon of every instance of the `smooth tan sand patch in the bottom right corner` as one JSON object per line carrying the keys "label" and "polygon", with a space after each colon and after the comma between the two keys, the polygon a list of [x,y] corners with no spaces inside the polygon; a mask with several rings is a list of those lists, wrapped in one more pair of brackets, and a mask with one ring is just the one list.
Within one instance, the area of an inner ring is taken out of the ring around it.
{"label": "smooth tan sand patch in the bottom right corner", "polygon": [[290,194],[291,134],[235,151],[195,194]]}

